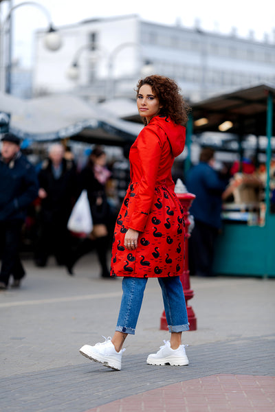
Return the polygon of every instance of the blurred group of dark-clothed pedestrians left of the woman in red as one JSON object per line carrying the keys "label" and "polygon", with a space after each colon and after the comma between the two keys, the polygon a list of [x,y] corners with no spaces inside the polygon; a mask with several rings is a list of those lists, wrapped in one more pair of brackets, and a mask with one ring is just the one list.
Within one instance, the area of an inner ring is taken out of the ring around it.
{"label": "blurred group of dark-clothed pedestrians left of the woman in red", "polygon": [[[31,251],[36,266],[51,256],[69,275],[85,254],[95,251],[100,277],[111,279],[107,252],[120,202],[129,184],[129,165],[119,159],[107,165],[107,154],[94,146],[79,167],[73,152],[61,143],[48,147],[36,166],[20,150],[20,140],[6,133],[0,163],[0,288],[19,287],[25,275],[19,253]],[[124,151],[126,157],[126,151]],[[93,230],[74,233],[69,216],[83,190],[87,191]]]}

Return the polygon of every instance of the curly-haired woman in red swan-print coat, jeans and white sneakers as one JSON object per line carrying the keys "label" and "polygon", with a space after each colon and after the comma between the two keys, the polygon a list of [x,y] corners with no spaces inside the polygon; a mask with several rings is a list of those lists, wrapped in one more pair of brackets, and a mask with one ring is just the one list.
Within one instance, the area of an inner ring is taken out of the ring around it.
{"label": "curly-haired woman in red swan-print coat, jeans and white sneakers", "polygon": [[145,127],[130,150],[131,183],[115,225],[111,260],[111,275],[123,277],[118,323],[112,339],[80,348],[87,358],[116,370],[126,336],[135,334],[148,277],[157,277],[162,288],[171,336],[147,363],[188,365],[181,332],[189,327],[179,280],[184,220],[171,176],[173,161],[184,150],[188,107],[173,80],[148,76],[137,83],[137,108]]}

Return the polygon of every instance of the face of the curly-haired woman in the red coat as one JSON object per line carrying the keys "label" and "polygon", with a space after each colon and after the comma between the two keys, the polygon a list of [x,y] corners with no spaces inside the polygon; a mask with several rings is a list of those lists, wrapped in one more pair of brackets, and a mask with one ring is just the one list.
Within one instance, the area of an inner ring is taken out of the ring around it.
{"label": "face of the curly-haired woman in the red coat", "polygon": [[149,84],[143,84],[137,93],[137,109],[141,117],[146,117],[147,123],[150,122],[152,117],[159,113],[159,109],[162,106],[159,105],[159,99],[153,93],[153,90]]}

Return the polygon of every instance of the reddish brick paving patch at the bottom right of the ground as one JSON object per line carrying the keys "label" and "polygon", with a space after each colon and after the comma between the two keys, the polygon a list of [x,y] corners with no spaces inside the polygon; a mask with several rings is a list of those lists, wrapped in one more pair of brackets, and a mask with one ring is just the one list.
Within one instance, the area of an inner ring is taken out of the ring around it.
{"label": "reddish brick paving patch at the bottom right of the ground", "polygon": [[115,400],[86,412],[274,412],[275,377],[219,374]]}

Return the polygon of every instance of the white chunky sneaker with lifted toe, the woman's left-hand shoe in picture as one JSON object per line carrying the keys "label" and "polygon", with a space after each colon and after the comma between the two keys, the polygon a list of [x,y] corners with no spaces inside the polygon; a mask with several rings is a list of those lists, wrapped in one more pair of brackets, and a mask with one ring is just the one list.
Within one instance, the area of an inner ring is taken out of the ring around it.
{"label": "white chunky sneaker with lifted toe, the woman's left-hand shoe in picture", "polygon": [[102,365],[120,371],[121,369],[121,358],[124,349],[120,352],[116,352],[113,343],[111,342],[111,337],[107,339],[102,336],[105,341],[101,343],[96,343],[96,345],[84,345],[80,347],[80,354],[86,356],[86,358],[91,359],[91,361],[102,363]]}

